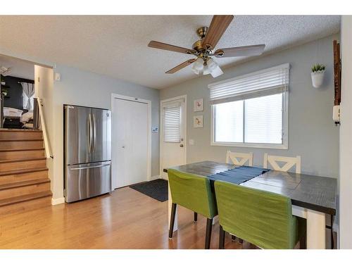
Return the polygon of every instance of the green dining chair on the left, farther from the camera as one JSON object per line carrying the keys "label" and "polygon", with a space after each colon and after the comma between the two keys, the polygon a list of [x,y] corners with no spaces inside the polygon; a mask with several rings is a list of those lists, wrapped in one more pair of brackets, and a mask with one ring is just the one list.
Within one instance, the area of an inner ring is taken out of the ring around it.
{"label": "green dining chair on the left, farther from the camera", "polygon": [[207,218],[205,249],[210,249],[213,218],[218,215],[215,196],[210,189],[210,180],[207,177],[173,169],[168,170],[168,177],[172,197],[169,238],[172,239],[177,205],[183,206]]}

